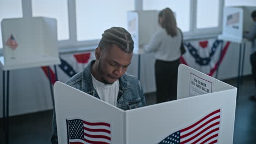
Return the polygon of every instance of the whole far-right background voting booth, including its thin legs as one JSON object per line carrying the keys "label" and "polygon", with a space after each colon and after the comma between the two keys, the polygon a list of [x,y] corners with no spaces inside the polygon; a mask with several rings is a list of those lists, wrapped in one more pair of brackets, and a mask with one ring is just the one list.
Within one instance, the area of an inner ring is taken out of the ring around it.
{"label": "whole far-right background voting booth, including its thin legs", "polygon": [[251,17],[253,10],[256,10],[256,7],[225,7],[222,26],[223,32],[218,36],[218,39],[240,44],[237,88],[239,88],[240,78],[243,75],[245,59],[246,39],[243,39],[243,33],[245,31],[250,31],[250,28],[253,25]]}

